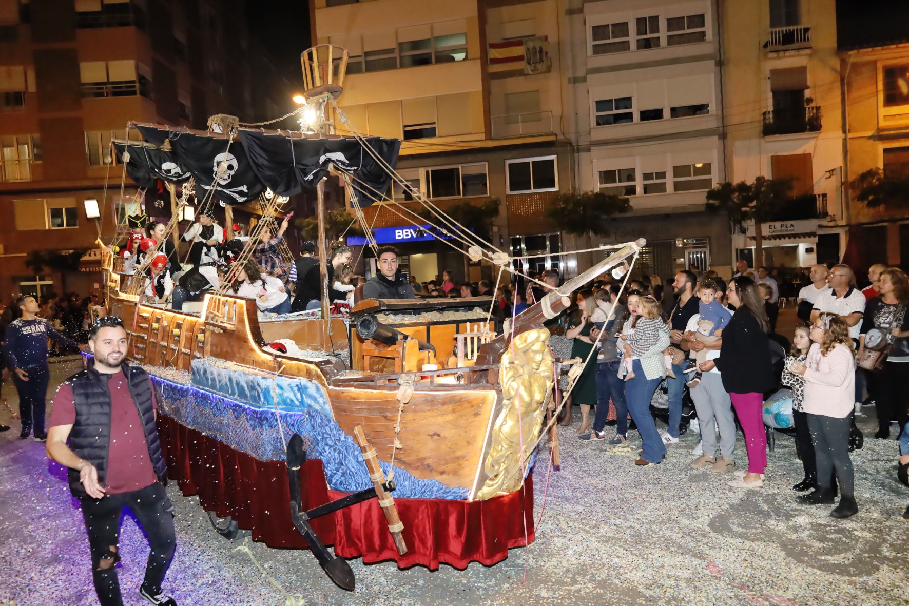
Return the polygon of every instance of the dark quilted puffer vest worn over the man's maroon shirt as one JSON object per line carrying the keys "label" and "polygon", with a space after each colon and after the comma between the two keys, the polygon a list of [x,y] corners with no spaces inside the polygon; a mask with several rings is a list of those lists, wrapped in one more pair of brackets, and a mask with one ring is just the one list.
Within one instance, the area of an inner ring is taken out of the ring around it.
{"label": "dark quilted puffer vest worn over the man's maroon shirt", "polygon": [[[139,412],[145,431],[145,443],[148,445],[149,460],[155,475],[165,482],[167,468],[161,452],[161,442],[155,426],[155,409],[152,408],[152,384],[148,373],[138,366],[123,365],[123,373],[129,393],[133,397],[135,408]],[[85,461],[95,465],[98,470],[98,483],[105,485],[107,476],[107,458],[110,451],[111,433],[111,393],[108,384],[110,375],[98,373],[95,361],[88,363],[88,368],[75,373],[67,382],[73,387],[75,402],[75,424],[69,433],[69,447]],[[86,497],[85,487],[79,482],[79,472],[69,470],[69,490],[75,497]]]}

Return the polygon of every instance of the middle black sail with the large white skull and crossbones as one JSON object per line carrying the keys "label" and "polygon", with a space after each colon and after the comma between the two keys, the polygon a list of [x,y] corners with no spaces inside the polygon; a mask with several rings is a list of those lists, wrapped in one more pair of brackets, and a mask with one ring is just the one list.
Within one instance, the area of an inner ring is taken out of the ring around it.
{"label": "middle black sail with the large white skull and crossbones", "polygon": [[[136,126],[146,141],[164,143],[167,131],[148,126]],[[195,177],[195,194],[205,200],[214,188],[214,195],[225,204],[244,204],[258,197],[265,189],[246,157],[239,141],[228,146],[225,137],[191,133],[172,133],[171,148],[176,164]]]}

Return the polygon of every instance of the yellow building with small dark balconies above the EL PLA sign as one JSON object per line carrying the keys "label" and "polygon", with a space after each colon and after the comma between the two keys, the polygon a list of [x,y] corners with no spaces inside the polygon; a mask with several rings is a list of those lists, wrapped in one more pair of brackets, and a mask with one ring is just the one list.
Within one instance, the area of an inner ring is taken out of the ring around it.
{"label": "yellow building with small dark balconies above the EL PLA sign", "polygon": [[[838,261],[845,244],[843,128],[834,0],[722,3],[731,180],[790,179],[792,200],[762,227],[764,264]],[[734,235],[754,259],[754,225]]]}

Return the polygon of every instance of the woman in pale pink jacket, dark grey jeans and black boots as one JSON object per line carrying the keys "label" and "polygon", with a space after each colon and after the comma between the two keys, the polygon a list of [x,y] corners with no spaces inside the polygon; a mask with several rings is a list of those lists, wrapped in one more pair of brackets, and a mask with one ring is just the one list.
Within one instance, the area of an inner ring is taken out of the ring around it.
{"label": "woman in pale pink jacket, dark grey jeans and black boots", "polygon": [[822,313],[811,326],[805,363],[793,363],[790,371],[804,375],[803,408],[814,443],[817,488],[796,497],[806,505],[832,504],[835,500],[833,472],[840,485],[840,503],[830,515],[848,518],[858,512],[854,497],[853,465],[849,460],[849,430],[852,426],[855,391],[855,351],[849,326],[842,316]]}

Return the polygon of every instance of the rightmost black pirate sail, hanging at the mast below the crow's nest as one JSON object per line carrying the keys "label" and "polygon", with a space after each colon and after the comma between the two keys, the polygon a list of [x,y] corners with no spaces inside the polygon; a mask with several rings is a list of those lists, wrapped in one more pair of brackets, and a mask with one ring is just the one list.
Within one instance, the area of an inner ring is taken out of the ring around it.
{"label": "rightmost black pirate sail, hanging at the mast below the crow's nest", "polygon": [[[332,164],[335,170],[354,177],[353,185],[364,205],[380,200],[391,183],[391,175],[355,139],[291,139],[285,134],[245,129],[238,133],[255,173],[278,195],[315,187]],[[399,140],[367,137],[365,142],[394,170],[401,150]]]}

